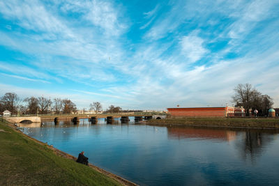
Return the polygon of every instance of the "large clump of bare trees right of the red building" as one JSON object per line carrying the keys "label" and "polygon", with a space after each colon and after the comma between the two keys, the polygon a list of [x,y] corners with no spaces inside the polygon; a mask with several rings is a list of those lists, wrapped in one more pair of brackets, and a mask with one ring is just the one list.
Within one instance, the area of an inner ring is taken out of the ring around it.
{"label": "large clump of bare trees right of the red building", "polygon": [[273,106],[273,100],[269,95],[264,95],[257,91],[251,84],[238,84],[234,88],[232,96],[235,107],[243,107],[246,111],[246,116],[249,116],[249,111],[257,109],[259,116],[268,116],[269,109]]}

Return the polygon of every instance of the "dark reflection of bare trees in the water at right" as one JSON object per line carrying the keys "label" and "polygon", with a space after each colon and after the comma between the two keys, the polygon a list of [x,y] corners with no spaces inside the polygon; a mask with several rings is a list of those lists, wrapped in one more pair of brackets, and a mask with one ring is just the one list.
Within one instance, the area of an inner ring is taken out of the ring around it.
{"label": "dark reflection of bare trees in the water at right", "polygon": [[251,161],[255,157],[260,156],[264,148],[273,140],[273,133],[265,133],[262,131],[246,130],[243,133],[243,139],[236,143],[240,150],[240,155],[244,160],[250,157]]}

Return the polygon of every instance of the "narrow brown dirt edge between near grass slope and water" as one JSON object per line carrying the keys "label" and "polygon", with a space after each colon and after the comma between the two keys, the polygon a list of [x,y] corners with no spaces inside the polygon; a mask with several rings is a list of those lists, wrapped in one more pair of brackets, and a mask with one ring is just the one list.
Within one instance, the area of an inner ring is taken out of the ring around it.
{"label": "narrow brown dirt edge between near grass slope and water", "polygon": [[[17,130],[17,127],[15,127],[15,125],[13,125],[12,123],[7,122],[6,125],[8,127],[10,127],[12,130],[14,130],[15,132],[22,134],[24,137],[27,137],[28,139],[31,139],[32,141],[36,142],[36,144],[40,144],[41,146],[46,146],[47,148],[51,149],[53,151],[54,155],[66,158],[68,160],[73,160],[74,162],[77,160],[77,157],[75,157],[73,155],[65,153],[62,150],[59,150],[58,148],[54,148],[53,146],[50,146],[46,143],[43,143],[42,141],[34,139],[27,134],[24,134],[21,130]],[[89,167],[95,171],[98,171],[99,173],[102,173],[103,175],[105,175],[109,178],[112,178],[113,180],[120,183],[121,185],[127,185],[127,186],[136,186],[137,185],[136,183],[133,183],[130,180],[126,180],[125,178],[122,178],[121,176],[117,176],[116,174],[106,171],[105,169],[101,169],[100,167],[95,166],[91,163],[89,163]]]}

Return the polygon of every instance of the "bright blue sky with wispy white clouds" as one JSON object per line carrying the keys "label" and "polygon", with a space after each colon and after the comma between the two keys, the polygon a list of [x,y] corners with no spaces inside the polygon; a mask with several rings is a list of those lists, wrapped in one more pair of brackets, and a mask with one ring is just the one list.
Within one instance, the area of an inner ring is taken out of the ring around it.
{"label": "bright blue sky with wispy white clouds", "polygon": [[279,1],[0,0],[0,96],[78,109],[232,105],[252,84],[279,107]]}

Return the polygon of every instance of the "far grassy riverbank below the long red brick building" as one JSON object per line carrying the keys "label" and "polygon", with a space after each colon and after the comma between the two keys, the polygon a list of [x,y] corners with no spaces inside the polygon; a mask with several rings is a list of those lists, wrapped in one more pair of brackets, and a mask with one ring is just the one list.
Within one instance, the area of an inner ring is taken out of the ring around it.
{"label": "far grassy riverbank below the long red brick building", "polygon": [[146,121],[146,125],[185,125],[208,127],[248,127],[262,129],[278,129],[278,118],[167,118]]}

